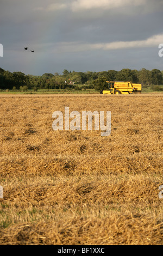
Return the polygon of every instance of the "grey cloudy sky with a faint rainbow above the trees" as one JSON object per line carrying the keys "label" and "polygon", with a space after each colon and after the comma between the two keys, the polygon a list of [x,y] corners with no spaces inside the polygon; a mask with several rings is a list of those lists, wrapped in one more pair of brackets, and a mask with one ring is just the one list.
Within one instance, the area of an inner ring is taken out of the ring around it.
{"label": "grey cloudy sky with a faint rainbow above the trees", "polygon": [[163,70],[162,25],[163,0],[0,0],[0,68]]}

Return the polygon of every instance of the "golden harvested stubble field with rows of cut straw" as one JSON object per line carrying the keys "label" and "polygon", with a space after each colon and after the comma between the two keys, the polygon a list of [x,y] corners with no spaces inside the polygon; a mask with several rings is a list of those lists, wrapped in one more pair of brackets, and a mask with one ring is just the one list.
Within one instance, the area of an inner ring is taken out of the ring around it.
{"label": "golden harvested stubble field with rows of cut straw", "polygon": [[[162,94],[0,96],[1,245],[163,245]],[[111,135],[52,113],[111,111]]]}

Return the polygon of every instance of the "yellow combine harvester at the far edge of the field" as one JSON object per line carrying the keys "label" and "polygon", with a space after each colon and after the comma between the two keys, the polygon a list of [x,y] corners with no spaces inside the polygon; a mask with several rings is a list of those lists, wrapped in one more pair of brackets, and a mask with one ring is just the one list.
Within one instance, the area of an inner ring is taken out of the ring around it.
{"label": "yellow combine harvester at the far edge of the field", "polygon": [[101,90],[101,94],[137,94],[141,93],[141,84],[140,83],[131,83],[131,82],[109,82],[107,90]]}

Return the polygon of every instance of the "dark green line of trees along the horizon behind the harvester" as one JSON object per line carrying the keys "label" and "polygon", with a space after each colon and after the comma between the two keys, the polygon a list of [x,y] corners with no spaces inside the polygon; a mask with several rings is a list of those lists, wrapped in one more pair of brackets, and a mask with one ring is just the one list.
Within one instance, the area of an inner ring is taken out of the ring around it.
{"label": "dark green line of trees along the horizon behind the harvester", "polygon": [[149,85],[159,86],[163,83],[163,71],[142,68],[141,70],[71,72],[65,69],[61,75],[55,72],[54,74],[45,73],[42,76],[34,76],[25,75],[20,71],[9,72],[0,68],[1,90],[80,89],[78,84],[82,84],[83,88],[98,90],[104,88],[105,81],[131,81],[132,83],[141,83],[144,88]]}

